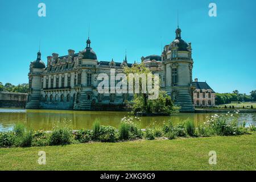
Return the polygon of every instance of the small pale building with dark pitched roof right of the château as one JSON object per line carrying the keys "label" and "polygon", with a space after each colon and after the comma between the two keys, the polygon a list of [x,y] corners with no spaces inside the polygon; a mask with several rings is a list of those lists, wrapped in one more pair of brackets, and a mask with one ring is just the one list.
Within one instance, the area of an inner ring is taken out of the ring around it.
{"label": "small pale building with dark pitched roof right of the ch\u00e2teau", "polygon": [[206,81],[199,82],[196,78],[192,85],[195,88],[193,92],[193,102],[195,107],[215,106],[215,92],[210,88]]}

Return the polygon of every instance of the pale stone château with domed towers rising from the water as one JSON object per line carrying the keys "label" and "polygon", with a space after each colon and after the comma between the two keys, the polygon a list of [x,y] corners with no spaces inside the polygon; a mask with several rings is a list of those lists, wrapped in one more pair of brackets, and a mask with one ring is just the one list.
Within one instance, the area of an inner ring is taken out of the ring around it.
{"label": "pale stone ch\u00e2teau with domed towers rising from the water", "polygon": [[[122,73],[123,67],[132,67],[125,59],[119,63],[98,61],[96,53],[90,47],[90,39],[86,48],[79,53],[72,49],[68,55],[52,53],[47,57],[47,65],[38,58],[31,62],[30,91],[27,108],[42,109],[74,109],[74,110],[122,110],[126,100],[133,94],[100,94],[97,86],[99,73],[110,75],[110,69]],[[164,46],[161,56],[142,57],[142,62],[153,72],[159,73],[160,89],[173,98],[181,111],[194,111],[192,86],[192,48],[191,43],[181,39],[181,30],[176,30],[176,39]]]}

